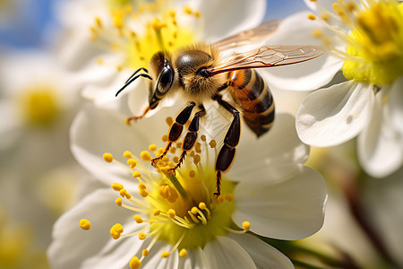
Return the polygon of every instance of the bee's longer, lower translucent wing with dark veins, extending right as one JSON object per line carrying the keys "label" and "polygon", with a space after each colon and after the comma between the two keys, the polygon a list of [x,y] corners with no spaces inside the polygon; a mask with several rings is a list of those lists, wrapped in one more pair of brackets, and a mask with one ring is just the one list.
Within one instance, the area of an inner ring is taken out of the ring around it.
{"label": "bee's longer, lower translucent wing with dark veins, extending right", "polygon": [[251,51],[227,57],[208,70],[211,75],[224,72],[262,68],[278,65],[291,65],[321,56],[323,50],[318,46],[263,46]]}

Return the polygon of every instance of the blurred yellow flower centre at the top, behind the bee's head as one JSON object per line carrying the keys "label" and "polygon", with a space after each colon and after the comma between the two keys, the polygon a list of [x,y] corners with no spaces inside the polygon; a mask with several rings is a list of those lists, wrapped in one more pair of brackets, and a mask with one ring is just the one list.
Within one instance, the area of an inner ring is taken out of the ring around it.
{"label": "blurred yellow flower centre at the top, behind the bee's head", "polygon": [[[96,17],[94,25],[90,26],[91,40],[102,48],[111,48],[124,55],[116,66],[118,70],[147,66],[156,52],[192,44],[195,34],[201,31],[201,13],[188,6],[176,12],[169,9],[175,6],[172,1],[143,1],[135,6],[122,4],[122,1],[111,2],[110,17]],[[177,16],[196,23],[180,25]],[[198,25],[196,29],[194,24]],[[103,64],[102,59],[98,62]]]}

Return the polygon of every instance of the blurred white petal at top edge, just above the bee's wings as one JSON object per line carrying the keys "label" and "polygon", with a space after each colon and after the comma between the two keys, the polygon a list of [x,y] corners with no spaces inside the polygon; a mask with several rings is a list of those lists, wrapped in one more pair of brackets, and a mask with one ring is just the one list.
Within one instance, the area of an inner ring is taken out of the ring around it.
{"label": "blurred white petal at top edge, just above the bee's wings", "polygon": [[[216,41],[248,30],[262,22],[266,11],[266,1],[236,0],[228,7],[227,1],[194,1],[193,6],[203,15],[204,40]],[[219,15],[217,15],[219,11]]]}

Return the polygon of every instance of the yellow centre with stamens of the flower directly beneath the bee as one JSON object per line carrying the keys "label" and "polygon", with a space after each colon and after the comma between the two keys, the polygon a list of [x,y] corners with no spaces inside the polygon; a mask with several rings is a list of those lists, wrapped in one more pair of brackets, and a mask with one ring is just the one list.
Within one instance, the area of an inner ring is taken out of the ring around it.
{"label": "yellow centre with stamens of the flower directly beneath the bee", "polygon": [[[166,140],[166,135],[163,141]],[[236,206],[236,197],[232,194],[236,184],[226,177],[222,178],[222,195],[216,192],[216,172],[213,163],[217,155],[216,143],[208,143],[201,135],[201,143],[196,143],[192,152],[187,154],[184,163],[174,173],[172,168],[178,161],[175,153],[181,153],[181,143],[170,149],[168,155],[157,161],[154,166],[144,165],[151,163],[151,155],[159,156],[164,149],[157,149],[151,144],[149,151],[141,152],[137,158],[132,152],[124,152],[128,169],[133,178],[138,181],[138,195],[133,190],[126,189],[120,183],[112,184],[112,188],[120,196],[115,203],[133,212],[133,221],[147,223],[144,228],[133,233],[124,233],[124,227],[116,223],[110,230],[114,239],[136,236],[140,240],[152,237],[150,246],[142,251],[139,258],[134,256],[132,268],[138,268],[141,261],[151,253],[152,246],[157,240],[165,241],[172,246],[170,251],[161,254],[170,256],[178,250],[178,255],[184,257],[186,249],[205,247],[218,236],[225,236],[228,231],[244,233],[250,229],[250,223],[245,221],[242,228],[238,228],[232,221],[232,214]],[[212,155],[212,156],[209,156]],[[110,153],[104,154],[107,162],[119,162]],[[121,162],[119,162],[122,164]],[[137,169],[147,170],[145,174]],[[148,169],[150,168],[150,169]],[[81,229],[90,230],[90,221],[82,219]]]}

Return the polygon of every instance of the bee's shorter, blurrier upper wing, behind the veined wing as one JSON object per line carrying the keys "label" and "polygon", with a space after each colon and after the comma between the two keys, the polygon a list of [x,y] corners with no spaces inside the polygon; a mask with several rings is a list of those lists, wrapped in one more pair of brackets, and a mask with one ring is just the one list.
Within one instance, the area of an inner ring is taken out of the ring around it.
{"label": "bee's shorter, blurrier upper wing, behind the veined wing", "polygon": [[261,25],[250,30],[244,30],[234,36],[221,39],[214,43],[214,46],[223,51],[229,48],[258,44],[268,39],[279,27],[279,20],[263,22]]}

